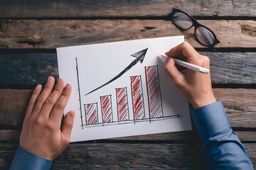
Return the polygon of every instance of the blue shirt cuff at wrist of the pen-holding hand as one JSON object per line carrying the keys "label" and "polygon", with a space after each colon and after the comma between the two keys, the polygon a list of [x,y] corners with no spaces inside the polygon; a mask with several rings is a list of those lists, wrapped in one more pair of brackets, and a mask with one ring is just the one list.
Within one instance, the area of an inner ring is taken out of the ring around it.
{"label": "blue shirt cuff at wrist of the pen-holding hand", "polygon": [[230,123],[221,101],[193,109],[191,117],[202,141],[230,128]]}

